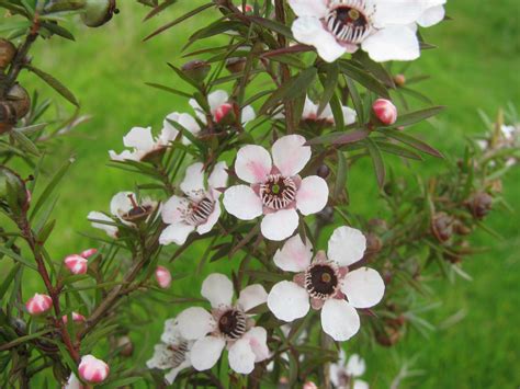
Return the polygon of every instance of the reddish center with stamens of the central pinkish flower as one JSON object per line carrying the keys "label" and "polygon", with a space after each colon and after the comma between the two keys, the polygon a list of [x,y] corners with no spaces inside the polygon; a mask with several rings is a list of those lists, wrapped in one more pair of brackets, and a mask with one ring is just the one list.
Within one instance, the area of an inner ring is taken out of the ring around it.
{"label": "reddish center with stamens of the central pinkish flower", "polygon": [[265,207],[283,209],[296,198],[296,184],[293,179],[281,174],[271,174],[260,185],[260,198]]}

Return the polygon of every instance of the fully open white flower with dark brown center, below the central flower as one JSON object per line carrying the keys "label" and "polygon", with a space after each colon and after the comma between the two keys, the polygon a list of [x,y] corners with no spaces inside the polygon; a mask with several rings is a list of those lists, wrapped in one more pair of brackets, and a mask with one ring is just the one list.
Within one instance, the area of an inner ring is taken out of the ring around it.
{"label": "fully open white flower with dark brown center, below the central flower", "polygon": [[297,274],[293,281],[273,286],[268,297],[269,309],[286,322],[303,318],[310,307],[321,309],[324,331],[336,341],[349,340],[360,328],[355,308],[376,305],[385,289],[376,271],[348,268],[363,258],[365,249],[366,239],[361,231],[346,226],[334,231],[327,254],[319,251],[314,261],[308,242],[304,244],[298,234],[289,239],[274,254],[274,263]]}

